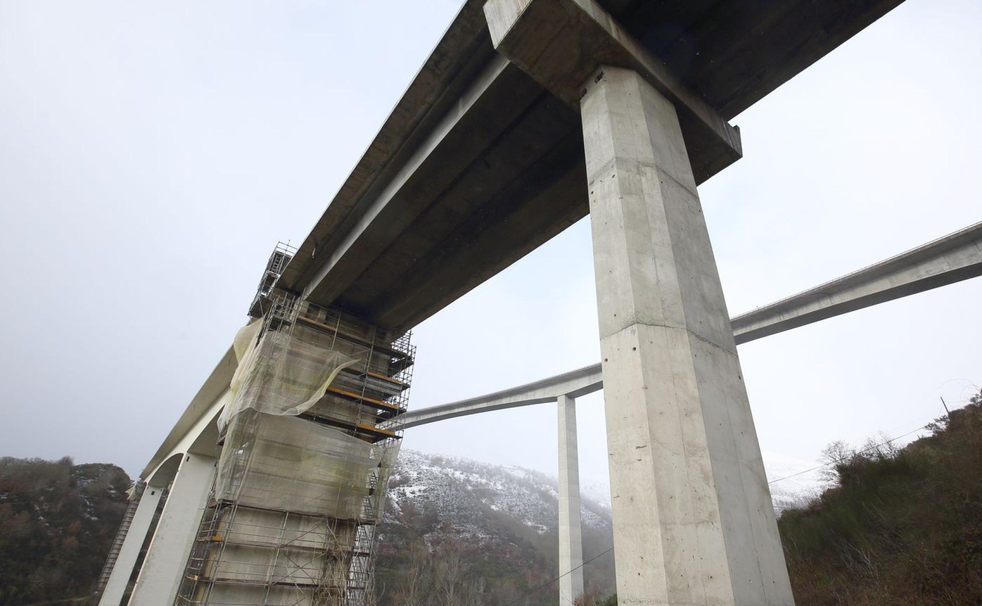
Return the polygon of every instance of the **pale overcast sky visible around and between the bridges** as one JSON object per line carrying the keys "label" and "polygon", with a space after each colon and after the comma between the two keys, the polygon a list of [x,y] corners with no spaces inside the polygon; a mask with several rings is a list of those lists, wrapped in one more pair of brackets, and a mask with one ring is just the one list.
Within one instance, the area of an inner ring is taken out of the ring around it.
{"label": "pale overcast sky visible around and between the bridges", "polygon": [[[0,0],[0,455],[136,476],[457,0]],[[700,195],[733,315],[982,220],[982,3],[908,0],[738,116]],[[982,279],[741,345],[765,460],[897,435],[982,383]],[[414,331],[412,407],[598,361],[584,220]],[[606,477],[602,395],[580,466]],[[410,429],[555,472],[552,405]]]}

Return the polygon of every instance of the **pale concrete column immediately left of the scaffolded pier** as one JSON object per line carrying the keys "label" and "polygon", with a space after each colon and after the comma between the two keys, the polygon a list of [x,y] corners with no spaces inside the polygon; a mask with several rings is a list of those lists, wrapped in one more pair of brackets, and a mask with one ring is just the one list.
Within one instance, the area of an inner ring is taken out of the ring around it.
{"label": "pale concrete column immediately left of the scaffolded pier", "polygon": [[136,577],[130,606],[173,604],[215,474],[215,458],[186,454]]}

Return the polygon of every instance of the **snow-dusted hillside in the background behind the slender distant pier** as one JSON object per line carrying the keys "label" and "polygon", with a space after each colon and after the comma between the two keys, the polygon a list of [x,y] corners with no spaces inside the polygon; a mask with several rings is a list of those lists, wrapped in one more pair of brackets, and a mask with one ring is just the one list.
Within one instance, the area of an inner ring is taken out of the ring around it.
{"label": "snow-dusted hillside in the background behind the slender distant pier", "polygon": [[[779,457],[768,461],[772,480],[810,466]],[[606,478],[582,480],[583,555],[590,561],[583,572],[591,590],[610,595],[615,590],[610,489]],[[813,474],[772,484],[776,508],[796,503],[815,485]],[[464,563],[487,591],[498,592],[489,603],[510,603],[553,579],[559,566],[556,490],[556,477],[542,472],[403,450],[380,529],[377,581],[389,588],[391,598],[382,603],[404,603],[400,591],[413,579],[458,570],[456,563]],[[550,585],[537,592],[540,601],[530,604],[555,603],[555,590]]]}

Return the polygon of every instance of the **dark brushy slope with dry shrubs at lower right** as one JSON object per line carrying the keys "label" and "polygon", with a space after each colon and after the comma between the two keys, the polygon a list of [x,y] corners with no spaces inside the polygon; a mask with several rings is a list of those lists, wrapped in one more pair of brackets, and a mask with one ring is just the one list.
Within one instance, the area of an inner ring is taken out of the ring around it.
{"label": "dark brushy slope with dry shrubs at lower right", "polygon": [[834,485],[784,513],[798,606],[982,604],[982,396],[905,448],[834,443]]}

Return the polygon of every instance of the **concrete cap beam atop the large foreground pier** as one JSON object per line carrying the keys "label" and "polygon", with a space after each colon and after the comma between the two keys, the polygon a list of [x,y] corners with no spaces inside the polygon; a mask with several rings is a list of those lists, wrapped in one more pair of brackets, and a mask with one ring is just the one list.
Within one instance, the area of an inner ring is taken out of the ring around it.
{"label": "concrete cap beam atop the large foreground pier", "polygon": [[742,156],[739,129],[652,57],[595,0],[489,0],[495,49],[578,109],[583,82],[601,65],[627,68],[676,107],[696,183]]}

